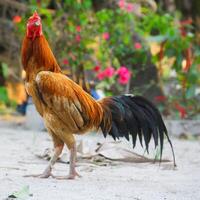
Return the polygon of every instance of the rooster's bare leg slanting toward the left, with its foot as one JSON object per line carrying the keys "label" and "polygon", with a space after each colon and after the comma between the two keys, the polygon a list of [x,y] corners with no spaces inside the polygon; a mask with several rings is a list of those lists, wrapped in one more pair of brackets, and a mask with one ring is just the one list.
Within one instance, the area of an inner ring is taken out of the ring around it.
{"label": "rooster's bare leg slanting toward the left, with its foot", "polygon": [[48,166],[46,167],[46,169],[44,170],[44,172],[42,174],[26,175],[25,177],[38,177],[38,178],[48,178],[49,176],[54,177],[51,174],[51,171],[52,171],[53,165],[58,160],[59,155],[62,153],[63,146],[64,145],[60,145],[60,146],[56,146],[54,148],[54,155],[51,157],[51,160],[49,161]]}

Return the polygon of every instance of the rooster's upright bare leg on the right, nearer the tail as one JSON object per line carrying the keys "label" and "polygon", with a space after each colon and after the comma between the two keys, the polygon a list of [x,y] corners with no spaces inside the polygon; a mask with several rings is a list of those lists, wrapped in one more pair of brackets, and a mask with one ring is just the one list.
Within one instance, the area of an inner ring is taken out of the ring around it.
{"label": "rooster's upright bare leg on the right, nearer the tail", "polygon": [[70,166],[69,166],[69,175],[68,176],[58,176],[56,179],[75,179],[76,176],[81,177],[75,169],[76,166],[76,143],[70,149]]}

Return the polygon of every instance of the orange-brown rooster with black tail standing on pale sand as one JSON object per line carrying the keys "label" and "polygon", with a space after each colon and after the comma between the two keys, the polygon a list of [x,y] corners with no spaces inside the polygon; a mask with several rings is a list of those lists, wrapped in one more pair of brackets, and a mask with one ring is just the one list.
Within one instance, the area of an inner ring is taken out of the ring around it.
{"label": "orange-brown rooster with black tail standing on pale sand", "polygon": [[158,109],[141,96],[121,95],[94,100],[78,84],[62,74],[61,69],[42,32],[40,16],[35,12],[27,22],[26,35],[22,44],[22,64],[26,71],[25,88],[32,96],[37,111],[54,144],[54,155],[41,178],[52,176],[52,167],[61,154],[64,144],[70,151],[69,175],[57,177],[74,179],[76,171],[75,134],[84,134],[101,129],[104,137],[114,140],[137,137],[146,150],[151,137],[155,146],[160,144],[161,156],[164,136],[167,137],[174,158],[173,146]]}

